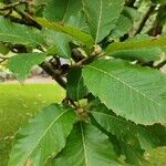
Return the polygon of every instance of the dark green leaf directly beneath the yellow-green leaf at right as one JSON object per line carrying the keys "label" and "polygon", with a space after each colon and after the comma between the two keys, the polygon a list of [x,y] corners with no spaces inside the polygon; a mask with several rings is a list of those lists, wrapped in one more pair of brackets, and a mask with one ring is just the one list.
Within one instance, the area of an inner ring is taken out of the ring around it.
{"label": "dark green leaf directly beneath the yellow-green leaf at right", "polygon": [[136,50],[121,50],[110,52],[108,55],[114,58],[120,58],[123,60],[141,60],[141,61],[157,61],[160,60],[164,51],[159,48],[149,48],[149,49],[136,49]]}

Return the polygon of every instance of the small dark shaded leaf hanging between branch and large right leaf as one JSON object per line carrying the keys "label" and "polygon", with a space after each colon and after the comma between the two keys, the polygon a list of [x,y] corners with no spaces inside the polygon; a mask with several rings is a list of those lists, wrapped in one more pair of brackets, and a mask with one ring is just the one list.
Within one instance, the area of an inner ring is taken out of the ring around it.
{"label": "small dark shaded leaf hanging between branch and large right leaf", "polygon": [[81,69],[70,71],[66,80],[66,92],[72,100],[80,101],[87,95],[87,89],[84,85]]}

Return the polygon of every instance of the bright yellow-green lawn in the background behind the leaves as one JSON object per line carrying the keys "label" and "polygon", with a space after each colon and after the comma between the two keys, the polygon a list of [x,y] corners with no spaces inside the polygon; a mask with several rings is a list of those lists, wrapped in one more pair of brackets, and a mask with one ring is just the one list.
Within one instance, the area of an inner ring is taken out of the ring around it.
{"label": "bright yellow-green lawn in the background behind the leaves", "polygon": [[[56,84],[0,84],[0,166],[7,166],[18,128],[53,102],[61,102],[64,91]],[[166,148],[151,151],[149,166],[166,166]]]}

